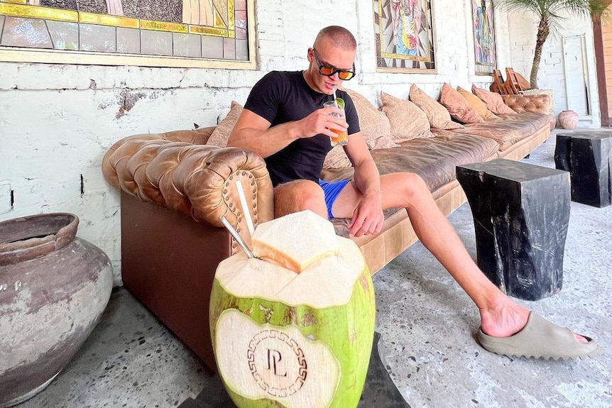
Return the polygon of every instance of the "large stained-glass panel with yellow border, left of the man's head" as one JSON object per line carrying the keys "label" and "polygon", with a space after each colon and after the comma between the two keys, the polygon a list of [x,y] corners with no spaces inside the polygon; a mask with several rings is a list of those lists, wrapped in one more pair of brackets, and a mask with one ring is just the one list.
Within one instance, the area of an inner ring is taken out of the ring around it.
{"label": "large stained-glass panel with yellow border, left of the man's head", "polygon": [[0,60],[254,68],[254,0],[0,0]]}

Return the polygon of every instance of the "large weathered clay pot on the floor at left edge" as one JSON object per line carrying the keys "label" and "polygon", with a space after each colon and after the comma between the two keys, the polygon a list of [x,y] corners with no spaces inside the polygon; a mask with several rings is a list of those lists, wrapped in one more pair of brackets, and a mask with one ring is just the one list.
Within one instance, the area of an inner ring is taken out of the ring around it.
{"label": "large weathered clay pot on the floor at left edge", "polygon": [[0,222],[0,408],[44,390],[109,301],[109,258],[78,225],[68,213]]}

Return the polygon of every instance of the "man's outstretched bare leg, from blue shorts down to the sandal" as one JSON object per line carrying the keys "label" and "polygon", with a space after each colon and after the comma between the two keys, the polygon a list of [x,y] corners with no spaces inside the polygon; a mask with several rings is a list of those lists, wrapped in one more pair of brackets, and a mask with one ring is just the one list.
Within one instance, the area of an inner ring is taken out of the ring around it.
{"label": "man's outstretched bare leg, from blue shorts down to the sandal", "polygon": [[[439,260],[479,308],[482,330],[489,336],[506,337],[523,329],[528,309],[513,302],[481,272],[457,232],[439,211],[421,177],[395,173],[381,177],[383,208],[405,207],[422,244]],[[361,193],[351,182],[342,190],[333,212],[350,217]],[[586,339],[579,338],[586,342]]]}

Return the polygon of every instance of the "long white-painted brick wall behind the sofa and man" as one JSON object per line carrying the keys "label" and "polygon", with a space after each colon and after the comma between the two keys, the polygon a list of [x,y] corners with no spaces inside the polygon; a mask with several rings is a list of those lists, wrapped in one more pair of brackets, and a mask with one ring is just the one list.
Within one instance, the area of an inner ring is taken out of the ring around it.
{"label": "long white-painted brick wall behind the sofa and man", "polygon": [[[374,104],[381,90],[408,97],[412,83],[436,98],[444,82],[488,86],[490,78],[472,75],[470,1],[433,3],[436,75],[376,72],[370,0],[257,1],[255,71],[0,62],[0,220],[74,212],[81,220],[78,235],[109,255],[120,285],[119,194],[100,170],[102,156],[116,140],[217,123],[231,100],[246,101],[250,87],[265,72],[307,67],[307,48],[319,29],[331,24],[355,33],[360,73],[346,86]],[[510,55],[517,45],[509,39],[505,20],[496,17],[498,60],[501,67],[516,67],[513,59],[528,51]],[[532,27],[526,26],[528,32]],[[542,85],[554,83],[542,78]]]}

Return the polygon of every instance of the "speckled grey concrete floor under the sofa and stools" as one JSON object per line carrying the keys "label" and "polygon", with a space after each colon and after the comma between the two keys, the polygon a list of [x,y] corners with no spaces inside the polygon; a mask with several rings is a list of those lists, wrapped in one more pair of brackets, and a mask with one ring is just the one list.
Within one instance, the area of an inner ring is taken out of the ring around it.
{"label": "speckled grey concrete floor under the sofa and stools", "polygon": [[[554,167],[554,137],[526,162]],[[484,351],[479,317],[435,258],[415,244],[374,277],[383,363],[411,407],[612,407],[612,206],[572,203],[564,286],[537,302],[548,319],[599,341],[603,355],[525,360]],[[449,217],[475,257],[464,204]],[[70,365],[20,408],[176,407],[212,378],[200,360],[123,289]]]}

